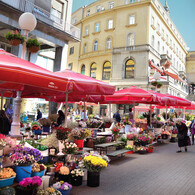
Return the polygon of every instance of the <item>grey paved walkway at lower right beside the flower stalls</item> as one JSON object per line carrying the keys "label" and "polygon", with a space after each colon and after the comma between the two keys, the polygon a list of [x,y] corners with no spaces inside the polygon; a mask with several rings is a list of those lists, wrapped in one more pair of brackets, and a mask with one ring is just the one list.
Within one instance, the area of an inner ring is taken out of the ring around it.
{"label": "grey paved walkway at lower right beside the flower stalls", "polygon": [[84,182],[71,195],[195,195],[195,145],[177,149],[168,143],[151,154],[126,154],[101,172],[99,187]]}

